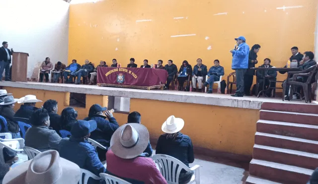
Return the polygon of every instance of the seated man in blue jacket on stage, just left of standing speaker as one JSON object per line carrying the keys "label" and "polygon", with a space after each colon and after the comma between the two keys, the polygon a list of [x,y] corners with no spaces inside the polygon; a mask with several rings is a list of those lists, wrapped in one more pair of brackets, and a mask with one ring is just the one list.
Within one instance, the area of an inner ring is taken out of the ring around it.
{"label": "seated man in blue jacket on stage, just left of standing speaker", "polygon": [[209,90],[207,93],[212,93],[214,81],[219,81],[220,76],[224,75],[224,67],[220,66],[219,60],[214,60],[214,66],[212,66],[208,71],[208,80],[204,82],[204,86],[209,85]]}

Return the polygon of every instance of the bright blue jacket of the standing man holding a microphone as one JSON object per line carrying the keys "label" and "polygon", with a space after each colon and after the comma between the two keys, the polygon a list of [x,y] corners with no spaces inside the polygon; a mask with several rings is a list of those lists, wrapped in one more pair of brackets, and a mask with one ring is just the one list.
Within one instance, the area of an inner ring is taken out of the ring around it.
{"label": "bright blue jacket of the standing man holding a microphone", "polygon": [[232,69],[248,68],[249,47],[246,43],[241,43],[237,50],[232,53]]}

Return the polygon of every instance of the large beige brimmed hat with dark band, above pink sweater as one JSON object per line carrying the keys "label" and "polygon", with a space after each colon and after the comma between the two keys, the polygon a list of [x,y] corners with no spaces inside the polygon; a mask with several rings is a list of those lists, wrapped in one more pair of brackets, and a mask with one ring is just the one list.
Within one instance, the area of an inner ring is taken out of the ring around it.
{"label": "large beige brimmed hat with dark band, above pink sweater", "polygon": [[148,146],[149,132],[140,123],[129,123],[120,126],[110,139],[112,152],[123,159],[135,158]]}

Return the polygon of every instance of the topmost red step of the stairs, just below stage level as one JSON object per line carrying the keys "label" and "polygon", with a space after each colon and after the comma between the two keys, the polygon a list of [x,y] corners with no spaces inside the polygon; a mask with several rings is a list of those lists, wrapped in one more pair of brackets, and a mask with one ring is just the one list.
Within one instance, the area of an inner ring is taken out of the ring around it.
{"label": "topmost red step of the stairs, just below stage level", "polygon": [[261,110],[318,114],[318,105],[317,104],[292,104],[292,105],[290,105],[290,104],[286,104],[286,103],[264,102],[261,106]]}

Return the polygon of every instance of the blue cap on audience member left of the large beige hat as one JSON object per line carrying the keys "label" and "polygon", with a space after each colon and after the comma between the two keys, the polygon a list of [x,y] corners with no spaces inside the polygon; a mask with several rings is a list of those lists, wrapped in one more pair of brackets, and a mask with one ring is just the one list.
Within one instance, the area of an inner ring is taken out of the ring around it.
{"label": "blue cap on audience member left of the large beige hat", "polygon": [[88,133],[94,131],[97,128],[97,123],[95,120],[84,121],[78,120],[77,123],[74,123],[71,129],[71,134],[75,138],[81,138]]}

